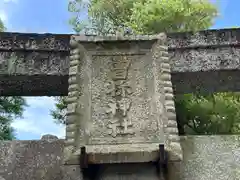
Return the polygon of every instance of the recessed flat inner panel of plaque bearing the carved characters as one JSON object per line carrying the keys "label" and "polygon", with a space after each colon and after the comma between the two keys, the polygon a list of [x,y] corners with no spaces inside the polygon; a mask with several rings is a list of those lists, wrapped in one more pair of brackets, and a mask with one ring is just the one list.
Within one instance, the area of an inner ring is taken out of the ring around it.
{"label": "recessed flat inner panel of plaque bearing the carved characters", "polygon": [[92,60],[88,143],[163,143],[163,108],[156,106],[151,60],[125,54]]}

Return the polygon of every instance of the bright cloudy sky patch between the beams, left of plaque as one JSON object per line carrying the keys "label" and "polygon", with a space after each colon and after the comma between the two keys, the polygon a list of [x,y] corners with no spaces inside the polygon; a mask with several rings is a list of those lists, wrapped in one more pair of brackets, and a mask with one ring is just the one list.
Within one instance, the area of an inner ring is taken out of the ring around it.
{"label": "bright cloudy sky patch between the beams, left of plaque", "polygon": [[16,130],[17,138],[22,140],[23,134],[25,140],[33,139],[33,135],[40,139],[44,134],[52,134],[58,138],[65,138],[65,126],[56,124],[50,115],[50,110],[55,108],[54,98],[25,98],[29,107],[26,108],[23,119],[16,119],[12,123],[12,127]]}

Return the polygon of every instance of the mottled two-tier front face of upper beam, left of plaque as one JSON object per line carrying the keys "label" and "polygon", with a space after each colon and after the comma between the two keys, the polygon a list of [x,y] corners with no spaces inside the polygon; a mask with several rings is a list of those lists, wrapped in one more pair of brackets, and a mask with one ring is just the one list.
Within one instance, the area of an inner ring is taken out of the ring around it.
{"label": "mottled two-tier front face of upper beam, left of plaque", "polygon": [[1,33],[0,73],[68,73],[69,35]]}

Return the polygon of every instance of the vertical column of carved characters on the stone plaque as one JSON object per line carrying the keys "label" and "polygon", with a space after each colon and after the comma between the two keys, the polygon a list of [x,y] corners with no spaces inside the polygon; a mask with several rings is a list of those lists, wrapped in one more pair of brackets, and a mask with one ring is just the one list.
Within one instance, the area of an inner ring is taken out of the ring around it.
{"label": "vertical column of carved characters on the stone plaque", "polygon": [[111,96],[106,113],[109,115],[109,135],[113,137],[133,135],[132,122],[127,113],[131,108],[131,87],[128,84],[128,69],[131,61],[127,57],[113,56],[111,64],[111,80],[107,84],[107,95]]}

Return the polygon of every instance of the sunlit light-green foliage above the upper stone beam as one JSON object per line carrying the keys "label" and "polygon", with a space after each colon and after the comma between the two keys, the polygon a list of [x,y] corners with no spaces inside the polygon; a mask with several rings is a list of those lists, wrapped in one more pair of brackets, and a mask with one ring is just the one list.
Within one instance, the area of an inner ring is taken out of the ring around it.
{"label": "sunlit light-green foliage above the upper stone beam", "polygon": [[71,0],[69,6],[77,32],[86,27],[80,15],[88,10],[88,23],[101,34],[120,25],[138,34],[197,31],[212,26],[218,15],[216,5],[207,0]]}

